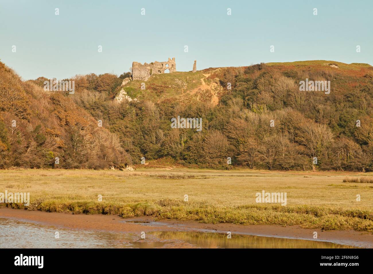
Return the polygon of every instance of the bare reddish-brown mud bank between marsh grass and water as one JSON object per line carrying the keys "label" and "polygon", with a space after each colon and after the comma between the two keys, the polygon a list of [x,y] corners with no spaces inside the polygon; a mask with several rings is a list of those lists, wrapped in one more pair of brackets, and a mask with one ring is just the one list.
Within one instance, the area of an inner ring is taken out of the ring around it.
{"label": "bare reddish-brown mud bank between marsh grass and water", "polygon": [[[321,231],[321,229],[304,229],[300,226],[281,227],[277,225],[236,225],[236,224],[204,224],[197,221],[160,220],[151,225],[126,223],[118,215],[73,215],[71,213],[25,211],[11,208],[0,208],[0,218],[15,218],[17,220],[33,221],[44,225],[77,230],[98,230],[108,232],[140,233],[152,231],[201,231],[215,230],[219,233],[249,234],[256,236],[285,237],[293,239],[313,239],[316,231],[318,239],[325,242],[335,242],[345,245],[359,243],[359,246],[373,248],[373,234],[369,232]],[[151,217],[138,217],[131,220],[152,221]]]}

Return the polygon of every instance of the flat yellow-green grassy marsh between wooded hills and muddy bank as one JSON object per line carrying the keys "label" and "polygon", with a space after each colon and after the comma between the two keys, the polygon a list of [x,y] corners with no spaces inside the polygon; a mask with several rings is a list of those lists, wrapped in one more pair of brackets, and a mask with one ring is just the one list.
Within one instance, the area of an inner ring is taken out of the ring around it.
{"label": "flat yellow-green grassy marsh between wooded hills and muddy bank", "polygon": [[[0,192],[29,192],[31,200],[28,207],[0,206],[373,232],[373,184],[343,182],[345,177],[372,175],[200,169],[0,170]],[[256,203],[256,193],[262,190],[286,192],[287,205]],[[357,195],[361,201],[356,201]]]}

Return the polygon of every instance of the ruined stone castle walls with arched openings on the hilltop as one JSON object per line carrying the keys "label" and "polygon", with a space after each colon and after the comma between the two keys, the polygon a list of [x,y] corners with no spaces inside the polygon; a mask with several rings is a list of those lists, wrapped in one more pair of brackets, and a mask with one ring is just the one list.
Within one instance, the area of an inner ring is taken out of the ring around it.
{"label": "ruined stone castle walls with arched openings on the hilltop", "polygon": [[164,73],[168,69],[170,73],[176,71],[175,57],[168,59],[166,62],[132,63],[132,79],[147,81],[150,75]]}

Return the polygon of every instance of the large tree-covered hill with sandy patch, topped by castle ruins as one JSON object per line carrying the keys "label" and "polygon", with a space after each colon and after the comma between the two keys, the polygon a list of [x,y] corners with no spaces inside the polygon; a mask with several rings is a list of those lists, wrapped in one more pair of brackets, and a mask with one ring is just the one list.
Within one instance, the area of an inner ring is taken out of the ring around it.
{"label": "large tree-covered hill with sandy patch, topped by castle ruins", "polygon": [[[120,86],[127,75],[75,76],[75,94],[45,95],[50,99],[44,109],[62,126],[65,120],[59,112],[65,110],[56,109],[63,98],[65,107],[77,109],[76,116],[102,120],[107,132],[118,138],[116,147],[131,155],[135,164],[145,157],[147,162],[200,168],[373,170],[373,67],[369,64],[313,60],[208,68],[153,75],[144,82],[145,89],[142,81]],[[330,81],[330,94],[300,91],[299,83],[306,79]],[[36,91],[42,80],[7,83],[19,87],[18,96],[24,89],[35,97],[43,94]],[[114,98],[121,91],[137,100],[118,103]],[[19,104],[17,115],[27,120],[31,110],[22,102],[12,105]],[[3,104],[3,111],[9,112],[7,108]],[[70,111],[66,115],[71,116]],[[170,120],[177,116],[201,118],[202,131],[172,129]],[[38,123],[31,122],[29,132]]]}

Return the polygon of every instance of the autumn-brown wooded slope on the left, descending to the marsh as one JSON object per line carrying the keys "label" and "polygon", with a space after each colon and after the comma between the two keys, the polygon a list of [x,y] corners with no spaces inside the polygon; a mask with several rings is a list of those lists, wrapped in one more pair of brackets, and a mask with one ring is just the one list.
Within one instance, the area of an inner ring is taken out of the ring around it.
{"label": "autumn-brown wooded slope on the left, descending to the marsh", "polygon": [[98,127],[68,92],[46,92],[42,85],[22,82],[0,62],[1,169],[102,169],[132,163],[117,135]]}

